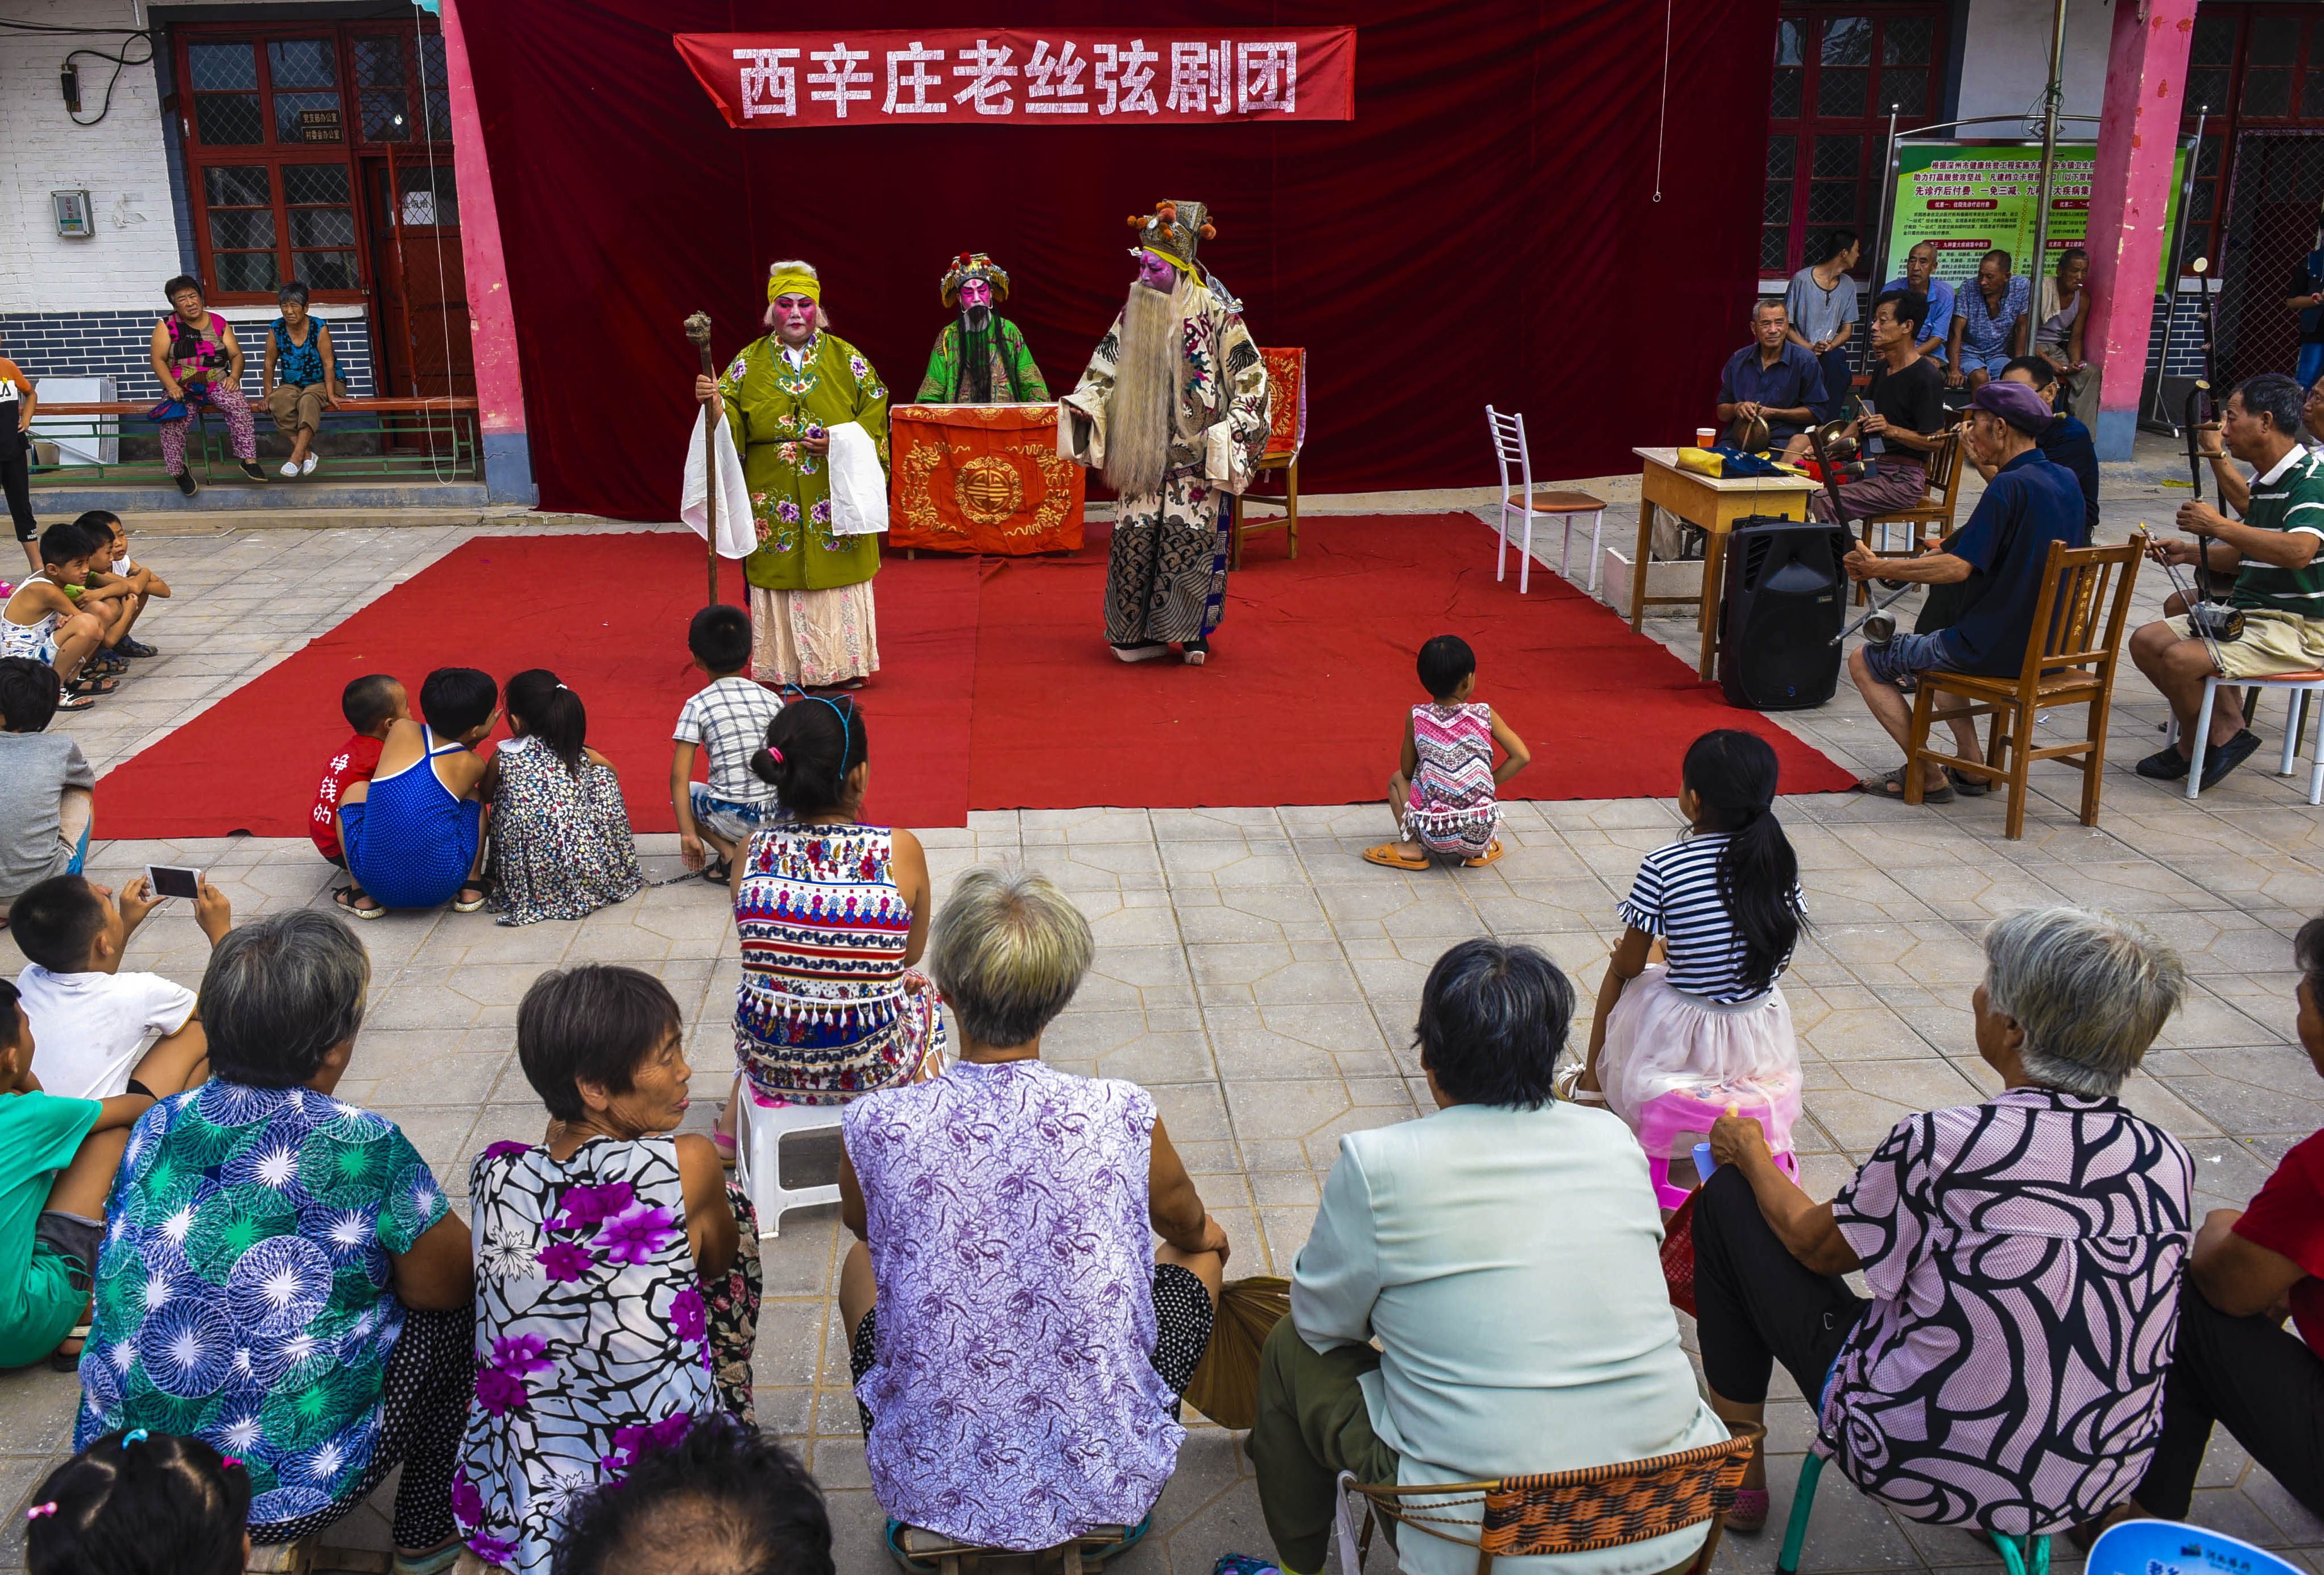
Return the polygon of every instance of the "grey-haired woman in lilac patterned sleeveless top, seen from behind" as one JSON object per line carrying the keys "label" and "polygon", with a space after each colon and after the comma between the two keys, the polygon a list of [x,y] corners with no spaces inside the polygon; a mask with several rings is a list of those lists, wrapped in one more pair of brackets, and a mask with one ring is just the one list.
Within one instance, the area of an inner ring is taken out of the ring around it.
{"label": "grey-haired woman in lilac patterned sleeveless top, seen from behind", "polygon": [[1092,950],[1041,876],[967,871],[930,948],[960,1064],[848,1106],[839,1317],[890,1540],[1141,1526],[1185,1438],[1227,1234],[1146,1089],[1041,1064]]}

